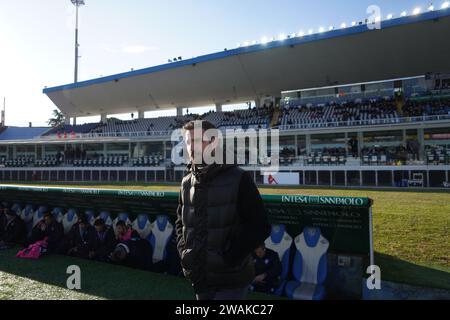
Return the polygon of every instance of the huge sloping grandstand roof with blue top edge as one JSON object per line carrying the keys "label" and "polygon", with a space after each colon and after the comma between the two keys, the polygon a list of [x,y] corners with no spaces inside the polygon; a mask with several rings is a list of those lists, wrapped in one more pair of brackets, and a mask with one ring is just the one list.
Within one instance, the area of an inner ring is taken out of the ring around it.
{"label": "huge sloping grandstand roof with blue top edge", "polygon": [[240,47],[44,89],[71,117],[251,101],[450,71],[450,10]]}

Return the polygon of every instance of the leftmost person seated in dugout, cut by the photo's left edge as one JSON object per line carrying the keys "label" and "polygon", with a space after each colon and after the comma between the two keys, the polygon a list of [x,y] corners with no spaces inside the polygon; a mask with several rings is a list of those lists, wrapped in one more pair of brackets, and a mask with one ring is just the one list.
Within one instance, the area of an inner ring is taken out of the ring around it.
{"label": "leftmost person seated in dugout, cut by the photo's left edge", "polygon": [[25,223],[8,208],[0,211],[0,250],[23,244],[26,237]]}

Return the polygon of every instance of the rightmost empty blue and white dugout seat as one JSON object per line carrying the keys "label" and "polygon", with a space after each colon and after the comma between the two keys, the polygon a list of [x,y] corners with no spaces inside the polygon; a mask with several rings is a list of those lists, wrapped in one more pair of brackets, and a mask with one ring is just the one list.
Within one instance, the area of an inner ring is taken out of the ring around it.
{"label": "rightmost empty blue and white dugout seat", "polygon": [[320,228],[306,227],[294,243],[296,253],[292,271],[296,281],[286,284],[286,294],[296,300],[322,300],[329,242],[322,236]]}

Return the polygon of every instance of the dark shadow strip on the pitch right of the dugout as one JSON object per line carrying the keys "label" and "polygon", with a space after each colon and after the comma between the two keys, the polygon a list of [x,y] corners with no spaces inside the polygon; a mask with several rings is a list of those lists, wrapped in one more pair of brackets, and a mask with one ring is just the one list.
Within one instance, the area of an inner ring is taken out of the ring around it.
{"label": "dark shadow strip on the pitch right of the dugout", "polygon": [[450,268],[417,265],[378,252],[375,263],[381,268],[382,280],[450,290]]}

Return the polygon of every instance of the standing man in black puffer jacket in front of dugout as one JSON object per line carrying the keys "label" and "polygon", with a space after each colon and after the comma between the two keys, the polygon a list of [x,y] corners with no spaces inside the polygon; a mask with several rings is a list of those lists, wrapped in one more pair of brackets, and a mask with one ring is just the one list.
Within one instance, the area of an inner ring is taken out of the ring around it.
{"label": "standing man in black puffer jacket in front of dugout", "polygon": [[[200,137],[214,129],[207,121],[196,122]],[[181,265],[197,299],[243,299],[255,278],[251,253],[270,234],[267,213],[255,183],[244,170],[194,159],[196,122],[183,127],[191,164],[181,184],[177,209]],[[203,152],[211,143],[214,139],[197,145]]]}

